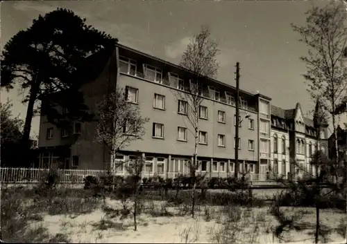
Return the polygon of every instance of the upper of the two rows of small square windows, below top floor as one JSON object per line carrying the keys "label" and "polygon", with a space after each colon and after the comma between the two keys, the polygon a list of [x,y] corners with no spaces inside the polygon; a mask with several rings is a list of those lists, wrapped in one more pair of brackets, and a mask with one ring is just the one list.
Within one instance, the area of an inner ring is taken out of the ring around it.
{"label": "upper of the two rows of small square windows, below top floor", "polygon": [[[138,103],[137,97],[138,97],[139,90],[137,88],[126,86],[126,100],[128,102]],[[185,100],[178,100],[178,113],[182,115],[188,114],[188,102]],[[165,96],[160,95],[158,93],[154,93],[153,98],[153,108],[164,110],[165,109]],[[199,118],[203,120],[208,120],[208,107],[207,106],[199,106],[198,111]],[[241,116],[239,116],[240,120]],[[218,111],[218,118],[217,121],[220,123],[226,123],[226,111]],[[236,124],[236,115],[234,115],[234,125]],[[239,126],[241,127],[241,123],[239,123]],[[248,118],[248,129],[254,129],[254,120],[251,118]]]}

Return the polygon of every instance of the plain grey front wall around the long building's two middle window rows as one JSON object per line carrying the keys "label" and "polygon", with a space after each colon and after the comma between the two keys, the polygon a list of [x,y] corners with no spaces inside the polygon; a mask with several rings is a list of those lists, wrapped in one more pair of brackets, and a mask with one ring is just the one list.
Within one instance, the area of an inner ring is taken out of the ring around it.
{"label": "plain grey front wall around the long building's two middle window rows", "polygon": [[[150,121],[145,125],[146,135],[144,135],[143,140],[132,142],[124,150],[192,156],[194,153],[193,133],[188,131],[187,142],[177,140],[178,126],[187,127],[191,131],[194,127],[190,124],[186,115],[178,114],[178,98],[173,88],[122,74],[119,78],[119,86],[123,88],[133,86],[139,89],[138,106],[141,109],[142,116],[150,118]],[[154,93],[165,96],[165,110],[153,109]],[[235,158],[233,136],[235,135],[235,107],[208,99],[204,99],[201,105],[208,107],[208,120],[199,120],[200,130],[208,132],[208,144],[198,145],[198,156],[221,159]],[[217,122],[219,110],[226,112],[225,124]],[[255,129],[248,129],[248,119],[244,119],[242,126],[239,128],[239,138],[242,138],[239,159],[257,161],[257,114],[242,109],[240,111],[244,116],[246,114],[251,115],[255,123]],[[244,118],[244,116],[241,118]],[[164,139],[152,137],[153,122],[164,124]],[[218,134],[226,136],[225,147],[218,146]],[[253,151],[248,150],[248,140],[254,140],[255,142]]]}

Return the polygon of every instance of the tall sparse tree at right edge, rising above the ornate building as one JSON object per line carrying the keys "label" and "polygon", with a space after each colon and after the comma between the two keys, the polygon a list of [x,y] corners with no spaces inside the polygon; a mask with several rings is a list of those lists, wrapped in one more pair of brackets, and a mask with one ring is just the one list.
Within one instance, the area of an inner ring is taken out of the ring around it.
{"label": "tall sparse tree at right edge, rising above the ornate building", "polygon": [[[293,29],[301,35],[300,41],[309,48],[307,55],[301,57],[307,67],[303,77],[307,80],[308,91],[314,100],[321,98],[325,111],[332,116],[335,138],[335,111],[347,95],[346,21],[346,6],[341,1],[335,1],[324,8],[309,10],[306,26],[292,24]],[[335,160],[339,161],[338,153]]]}

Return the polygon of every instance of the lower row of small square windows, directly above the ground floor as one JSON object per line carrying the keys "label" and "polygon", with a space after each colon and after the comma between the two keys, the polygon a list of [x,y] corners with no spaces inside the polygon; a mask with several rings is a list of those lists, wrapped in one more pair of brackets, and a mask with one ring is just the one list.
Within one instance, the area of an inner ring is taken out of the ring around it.
{"label": "lower row of small square windows, directly above the ground floor", "polygon": [[[182,142],[188,141],[188,129],[186,127],[178,126],[177,127],[177,140]],[[164,124],[153,123],[153,138],[164,139]],[[199,144],[208,144],[208,132],[207,131],[198,131],[198,143]],[[218,134],[217,135],[217,144],[219,147],[226,147],[226,135]],[[234,147],[235,147],[235,138],[234,138]],[[241,139],[239,138],[239,149],[241,149]],[[248,140],[248,150],[254,151],[255,142],[254,140]]]}

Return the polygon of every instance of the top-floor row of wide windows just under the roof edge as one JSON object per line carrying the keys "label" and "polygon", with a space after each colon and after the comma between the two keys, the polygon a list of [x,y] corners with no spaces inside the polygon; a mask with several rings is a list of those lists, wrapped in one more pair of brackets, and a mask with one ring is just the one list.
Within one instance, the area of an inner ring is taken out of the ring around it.
{"label": "top-floor row of wide windows just under the roof edge", "polygon": [[[120,72],[125,73],[128,75],[133,76],[141,76],[139,72],[137,72],[137,62],[133,59],[128,59],[126,57],[119,57],[119,66],[120,66]],[[152,82],[156,82],[159,84],[162,84],[163,82],[163,72],[160,68],[153,67],[149,64],[144,64],[143,66],[144,70],[144,78],[149,79]],[[169,81],[171,81],[174,86],[182,91],[187,91],[187,82],[179,77],[178,75],[174,73],[168,73],[169,75]],[[192,82],[192,80],[189,80],[189,87],[193,87],[196,84]],[[192,90],[192,89],[191,89]],[[214,88],[213,86],[208,86],[208,91],[210,98],[216,101],[221,102],[221,92]],[[202,90],[199,89],[199,95],[203,95]],[[224,92],[225,94],[225,102],[227,104],[235,106],[235,98],[228,92]],[[248,102],[244,100],[242,97],[240,97],[240,108],[242,109],[248,109]]]}

